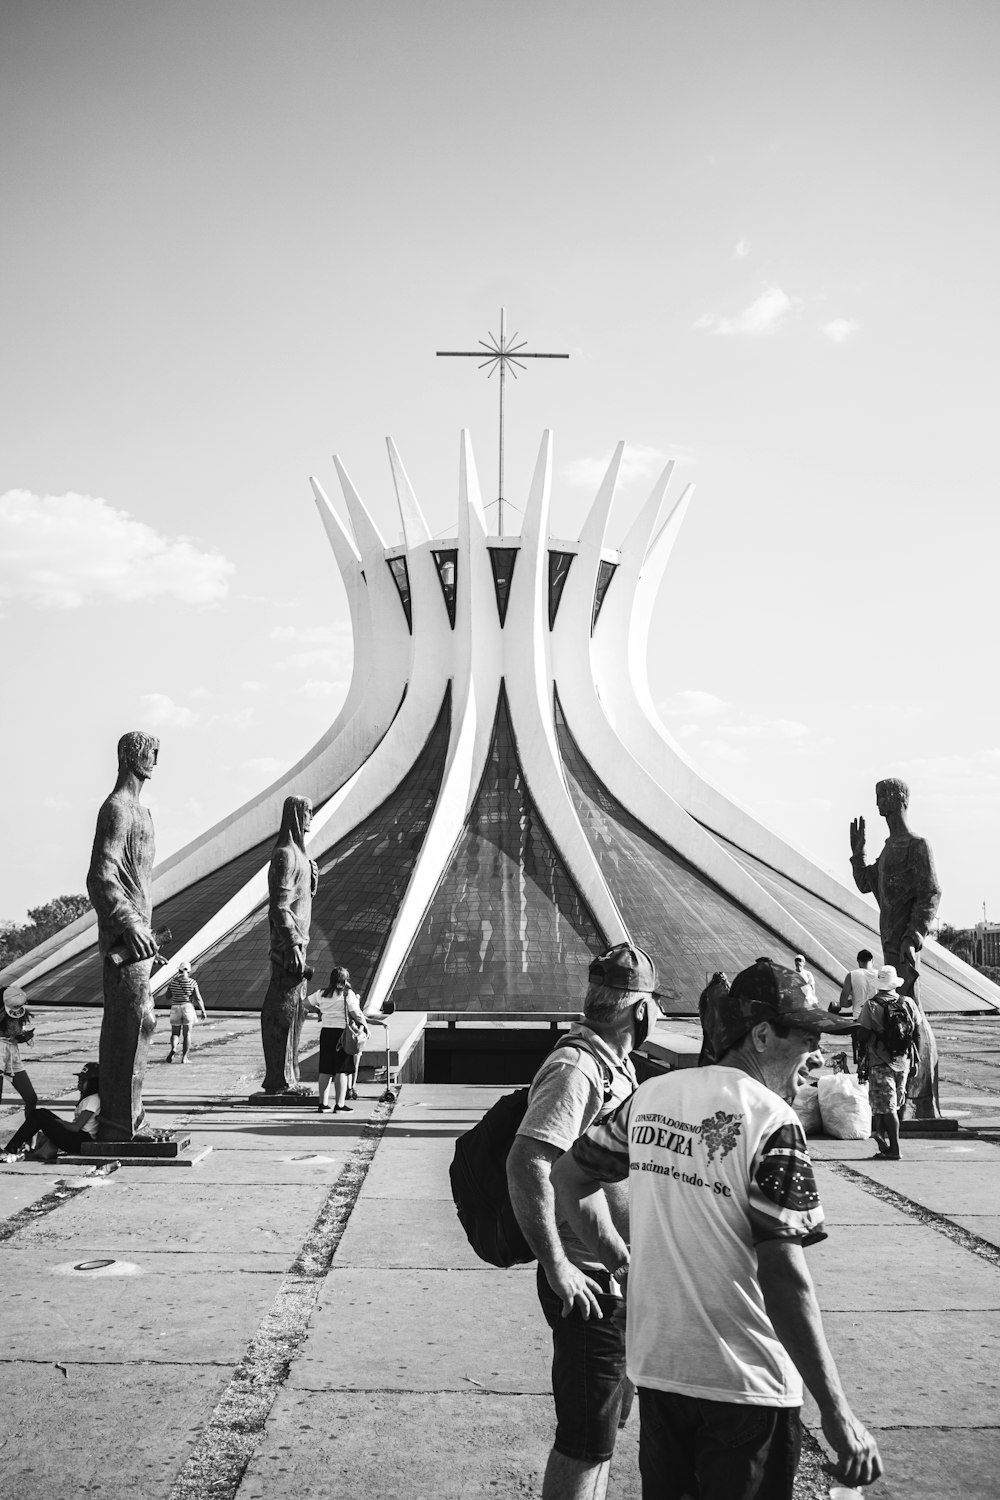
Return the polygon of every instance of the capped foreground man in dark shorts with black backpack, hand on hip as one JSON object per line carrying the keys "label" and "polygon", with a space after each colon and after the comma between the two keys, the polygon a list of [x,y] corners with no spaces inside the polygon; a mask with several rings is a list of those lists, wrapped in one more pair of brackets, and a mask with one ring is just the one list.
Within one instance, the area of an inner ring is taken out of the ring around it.
{"label": "capped foreground man in dark shorts with black backpack, hand on hip", "polygon": [[[555,1162],[636,1088],[628,1054],[660,1018],[652,958],[619,944],[589,968],[583,1026],[535,1074],[507,1158],[517,1221],[538,1257],[538,1300],[552,1329],[556,1436],[543,1500],[603,1500],[633,1386],[625,1374],[625,1299],[570,1226],[556,1218]],[[576,1046],[573,1046],[576,1042]],[[628,1238],[628,1185],[607,1190],[612,1218]]]}

